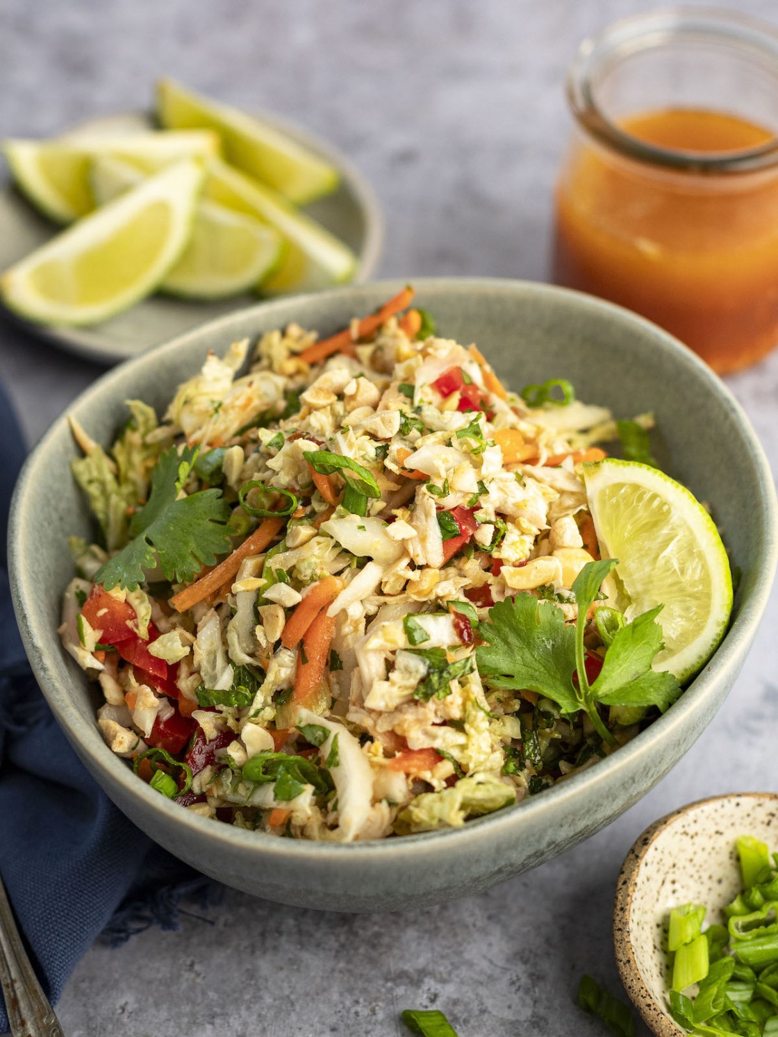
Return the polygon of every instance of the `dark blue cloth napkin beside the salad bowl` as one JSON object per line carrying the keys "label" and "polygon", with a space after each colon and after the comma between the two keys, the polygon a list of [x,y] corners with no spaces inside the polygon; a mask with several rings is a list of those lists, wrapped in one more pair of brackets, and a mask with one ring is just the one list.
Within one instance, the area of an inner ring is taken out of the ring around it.
{"label": "dark blue cloth napkin beside the salad bowl", "polygon": [[[2,386],[0,443],[0,875],[33,966],[56,1003],[101,933],[119,944],[155,923],[175,928],[182,897],[204,907],[219,889],[119,813],[35,683],[6,572],[8,505],[25,451]],[[7,1029],[0,993],[0,1034]]]}

